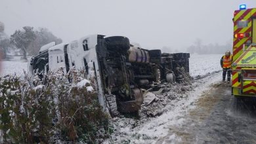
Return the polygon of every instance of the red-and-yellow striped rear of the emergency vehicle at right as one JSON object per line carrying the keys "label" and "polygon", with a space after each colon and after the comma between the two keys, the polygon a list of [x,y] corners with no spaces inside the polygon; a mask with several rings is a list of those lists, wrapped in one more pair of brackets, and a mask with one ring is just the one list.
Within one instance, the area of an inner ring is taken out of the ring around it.
{"label": "red-and-yellow striped rear of the emergency vehicle at right", "polygon": [[256,96],[256,9],[234,12],[232,94]]}

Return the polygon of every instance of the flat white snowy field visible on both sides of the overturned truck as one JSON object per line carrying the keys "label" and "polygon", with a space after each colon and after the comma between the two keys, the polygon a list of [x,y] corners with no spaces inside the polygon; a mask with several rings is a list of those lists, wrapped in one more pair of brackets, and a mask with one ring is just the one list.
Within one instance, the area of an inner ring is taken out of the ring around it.
{"label": "flat white snowy field visible on both sides of the overturned truck", "polygon": [[[190,56],[190,75],[207,75],[216,71],[221,71],[220,66],[221,54],[191,54]],[[1,62],[1,76],[7,74],[22,75],[23,70],[27,71],[28,64],[20,62],[20,57],[14,57],[11,61]]]}

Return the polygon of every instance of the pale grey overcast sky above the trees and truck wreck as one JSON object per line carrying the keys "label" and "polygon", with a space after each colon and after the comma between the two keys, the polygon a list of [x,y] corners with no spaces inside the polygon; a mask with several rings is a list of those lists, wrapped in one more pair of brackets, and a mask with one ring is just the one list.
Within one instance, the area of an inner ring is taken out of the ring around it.
{"label": "pale grey overcast sky above the trees and truck wreck", "polygon": [[186,48],[195,39],[225,44],[232,16],[256,0],[0,0],[8,35],[22,26],[47,27],[66,42],[89,34],[123,35],[144,48]]}

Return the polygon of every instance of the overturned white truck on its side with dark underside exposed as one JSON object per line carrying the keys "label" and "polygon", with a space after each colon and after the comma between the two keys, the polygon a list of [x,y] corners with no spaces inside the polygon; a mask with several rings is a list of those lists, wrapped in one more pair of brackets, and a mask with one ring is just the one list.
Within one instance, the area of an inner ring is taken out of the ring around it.
{"label": "overturned white truck on its side with dark underside exposed", "polygon": [[50,43],[29,63],[30,71],[63,67],[84,69],[96,81],[98,100],[112,116],[139,111],[142,89],[162,81],[182,81],[189,73],[190,54],[161,53],[131,45],[127,37],[90,35],[67,44]]}

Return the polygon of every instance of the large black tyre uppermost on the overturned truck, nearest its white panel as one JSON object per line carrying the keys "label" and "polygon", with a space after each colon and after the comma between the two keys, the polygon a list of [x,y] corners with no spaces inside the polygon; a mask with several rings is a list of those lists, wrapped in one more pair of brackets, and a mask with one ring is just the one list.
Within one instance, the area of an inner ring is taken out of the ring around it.
{"label": "large black tyre uppermost on the overturned truck, nearest its white panel", "polygon": [[127,37],[106,37],[105,41],[108,50],[115,50],[117,52],[127,52],[130,48],[130,41]]}

